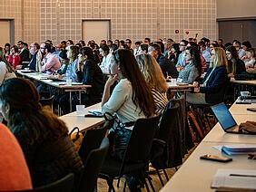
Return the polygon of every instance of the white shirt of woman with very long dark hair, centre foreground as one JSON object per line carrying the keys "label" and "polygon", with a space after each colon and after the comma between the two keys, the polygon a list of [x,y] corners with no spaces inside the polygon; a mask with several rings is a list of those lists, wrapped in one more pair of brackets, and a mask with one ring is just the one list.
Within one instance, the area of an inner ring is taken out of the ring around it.
{"label": "white shirt of woman with very long dark hair, centre foreground", "polygon": [[[103,104],[102,112],[116,113],[118,120],[123,123],[145,118],[140,107],[134,105],[132,95],[133,88],[131,82],[127,79],[122,79],[114,87],[109,100]],[[132,129],[133,127],[131,127],[131,130]]]}

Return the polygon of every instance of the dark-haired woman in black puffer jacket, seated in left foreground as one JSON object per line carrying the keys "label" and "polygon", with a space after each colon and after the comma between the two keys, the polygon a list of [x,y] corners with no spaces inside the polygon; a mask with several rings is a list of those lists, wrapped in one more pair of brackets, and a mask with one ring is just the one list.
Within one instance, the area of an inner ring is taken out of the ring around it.
{"label": "dark-haired woman in black puffer jacket, seated in left foreground", "polygon": [[68,135],[64,121],[42,108],[34,84],[21,78],[0,87],[1,113],[25,154],[33,187],[64,178],[78,177],[83,162]]}

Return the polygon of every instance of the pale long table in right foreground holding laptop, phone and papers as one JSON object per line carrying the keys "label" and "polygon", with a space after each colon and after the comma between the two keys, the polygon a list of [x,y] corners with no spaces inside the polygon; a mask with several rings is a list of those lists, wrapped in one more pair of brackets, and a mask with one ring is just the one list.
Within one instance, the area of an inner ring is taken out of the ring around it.
{"label": "pale long table in right foreground holding laptop, phone and papers", "polygon": [[[256,121],[256,112],[246,110],[251,105],[233,104],[231,114],[238,124],[246,120]],[[239,113],[239,114],[238,114]],[[231,156],[229,163],[202,160],[205,154],[227,157],[223,152],[213,149],[213,146],[231,144],[256,144],[256,135],[241,135],[226,133],[217,123],[210,133],[202,140],[191,156],[182,164],[182,167],[173,175],[168,183],[162,187],[162,192],[207,192],[214,191],[211,182],[218,168],[256,169],[256,161],[247,158],[247,155]],[[255,181],[256,182],[256,181]]]}

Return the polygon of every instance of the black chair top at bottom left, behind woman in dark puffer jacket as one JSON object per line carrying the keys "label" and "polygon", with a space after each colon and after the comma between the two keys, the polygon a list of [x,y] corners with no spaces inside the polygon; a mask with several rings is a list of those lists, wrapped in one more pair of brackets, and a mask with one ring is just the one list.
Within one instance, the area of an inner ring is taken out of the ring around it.
{"label": "black chair top at bottom left, behind woman in dark puffer jacket", "polygon": [[15,192],[71,192],[74,187],[74,174],[70,173],[64,178],[61,178],[53,183],[47,184],[42,187],[36,187],[30,190],[20,190]]}

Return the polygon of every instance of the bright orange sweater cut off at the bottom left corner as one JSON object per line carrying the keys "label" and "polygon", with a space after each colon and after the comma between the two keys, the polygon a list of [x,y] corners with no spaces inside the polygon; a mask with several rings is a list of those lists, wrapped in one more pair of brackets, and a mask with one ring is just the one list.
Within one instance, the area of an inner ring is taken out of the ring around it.
{"label": "bright orange sweater cut off at the bottom left corner", "polygon": [[23,151],[11,131],[0,123],[0,191],[31,188]]}

